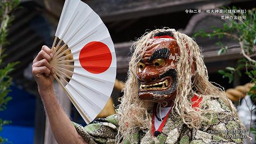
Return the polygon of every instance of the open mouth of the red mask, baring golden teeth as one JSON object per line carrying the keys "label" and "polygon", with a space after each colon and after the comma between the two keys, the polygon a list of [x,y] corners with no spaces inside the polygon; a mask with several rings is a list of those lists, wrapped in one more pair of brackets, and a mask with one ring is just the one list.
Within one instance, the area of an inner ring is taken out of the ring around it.
{"label": "open mouth of the red mask, baring golden teeth", "polygon": [[141,84],[140,91],[154,91],[154,90],[165,90],[171,85],[170,78],[164,78],[163,81],[151,83],[151,84]]}

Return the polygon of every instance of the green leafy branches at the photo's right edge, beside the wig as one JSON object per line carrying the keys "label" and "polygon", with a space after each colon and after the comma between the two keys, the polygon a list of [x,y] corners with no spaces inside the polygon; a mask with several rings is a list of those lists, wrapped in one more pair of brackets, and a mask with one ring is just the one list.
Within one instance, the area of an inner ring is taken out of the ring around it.
{"label": "green leafy branches at the photo's right edge, beside the wig", "polygon": [[[230,10],[229,7],[225,9]],[[238,9],[233,7],[232,10]],[[219,70],[218,73],[221,74],[223,78],[227,77],[229,83],[231,83],[233,82],[235,73],[242,76],[241,70],[245,70],[244,74],[251,79],[250,83],[254,83],[254,86],[251,87],[247,94],[250,95],[253,102],[256,103],[256,9],[247,10],[247,12],[243,14],[235,15],[234,13],[228,13],[227,15],[232,17],[244,17],[246,19],[228,19],[223,23],[222,28],[212,27],[210,33],[199,30],[194,37],[218,37],[221,39],[223,36],[226,36],[239,43],[237,47],[240,48],[243,58],[238,61],[237,67],[226,67],[225,70]],[[230,49],[230,46],[225,46],[221,42],[217,42],[216,44],[221,47],[218,51],[219,55]],[[251,113],[253,110],[255,109],[251,109]],[[256,129],[251,126],[250,128],[250,132],[256,134]]]}

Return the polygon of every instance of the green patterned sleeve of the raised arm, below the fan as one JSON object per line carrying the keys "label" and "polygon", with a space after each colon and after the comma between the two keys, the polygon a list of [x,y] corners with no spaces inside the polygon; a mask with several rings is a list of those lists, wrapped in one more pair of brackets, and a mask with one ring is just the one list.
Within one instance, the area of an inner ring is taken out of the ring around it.
{"label": "green patterned sleeve of the raised arm, below the fan", "polygon": [[83,127],[74,123],[76,131],[84,138],[86,142],[91,143],[115,143],[115,137],[118,130],[117,115],[111,115],[107,118],[95,119],[92,123]]}

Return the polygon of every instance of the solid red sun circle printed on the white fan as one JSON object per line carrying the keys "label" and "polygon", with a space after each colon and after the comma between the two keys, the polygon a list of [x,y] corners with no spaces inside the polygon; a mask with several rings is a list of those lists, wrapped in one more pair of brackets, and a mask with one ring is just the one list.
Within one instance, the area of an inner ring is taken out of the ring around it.
{"label": "solid red sun circle printed on the white fan", "polygon": [[110,67],[112,55],[106,44],[90,42],[80,51],[79,61],[85,70],[93,74],[100,74]]}

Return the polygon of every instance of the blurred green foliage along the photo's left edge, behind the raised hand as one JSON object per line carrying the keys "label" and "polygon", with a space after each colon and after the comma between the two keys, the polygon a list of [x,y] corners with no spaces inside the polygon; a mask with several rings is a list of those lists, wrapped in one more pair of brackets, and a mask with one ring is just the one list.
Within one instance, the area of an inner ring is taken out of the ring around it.
{"label": "blurred green foliage along the photo's left edge, behind the raised hand", "polygon": [[[10,73],[14,70],[14,66],[18,64],[18,62],[4,63],[4,58],[7,57],[4,54],[5,46],[8,43],[7,35],[8,29],[13,21],[13,11],[19,5],[19,0],[1,0],[0,1],[0,111],[6,109],[7,102],[12,99],[8,95],[11,91],[10,86],[12,84],[12,77],[10,77]],[[3,125],[11,123],[10,121],[4,121],[0,119],[0,132],[3,130]],[[0,143],[6,142],[6,138],[0,137]]]}

